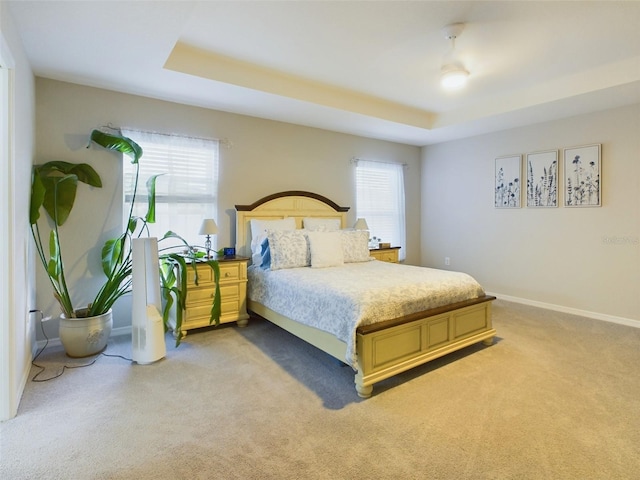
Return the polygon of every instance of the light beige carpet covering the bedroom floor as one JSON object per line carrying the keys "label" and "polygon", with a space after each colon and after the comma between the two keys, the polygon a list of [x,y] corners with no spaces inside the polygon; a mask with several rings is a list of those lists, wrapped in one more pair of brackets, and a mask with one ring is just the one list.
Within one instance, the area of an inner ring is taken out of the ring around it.
{"label": "light beige carpet covering the bedroom floor", "polygon": [[[27,385],[2,479],[637,479],[640,329],[496,301],[493,346],[381,382],[262,320]],[[127,337],[106,353],[131,356]],[[81,364],[45,350],[41,377]],[[38,369],[32,369],[32,376]]]}

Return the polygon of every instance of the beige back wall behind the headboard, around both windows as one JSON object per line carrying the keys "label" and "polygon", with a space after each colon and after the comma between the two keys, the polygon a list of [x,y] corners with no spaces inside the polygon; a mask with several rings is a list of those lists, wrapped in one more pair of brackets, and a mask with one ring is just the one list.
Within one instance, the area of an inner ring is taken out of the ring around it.
{"label": "beige back wall behind the headboard, around both windows", "polygon": [[[64,225],[63,248],[73,284],[72,296],[88,301],[98,287],[99,248],[121,221],[121,167],[110,152],[85,148],[93,128],[112,123],[134,129],[226,138],[220,149],[218,246],[235,244],[236,204],[250,204],[279,191],[308,190],[352,207],[355,222],[352,157],[408,164],[407,263],[420,263],[420,149],[352,135],[253,117],[178,105],[70,83],[38,78],[37,160],[59,159],[92,164],[104,188],[84,189]],[[143,157],[144,160],[144,157]],[[198,228],[199,226],[194,226]],[[71,245],[70,247],[67,245]],[[87,252],[87,253],[85,253]],[[41,272],[40,272],[41,273]],[[46,279],[38,278],[38,304],[56,313]],[[121,302],[115,326],[130,324],[129,306]],[[57,336],[56,324],[47,326]]]}

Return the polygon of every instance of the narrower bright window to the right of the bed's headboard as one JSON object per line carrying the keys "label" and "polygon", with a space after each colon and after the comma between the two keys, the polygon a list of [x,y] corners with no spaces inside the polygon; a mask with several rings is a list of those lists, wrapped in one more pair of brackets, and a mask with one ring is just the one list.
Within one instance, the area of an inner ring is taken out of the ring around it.
{"label": "narrower bright window to the right of the bed's headboard", "polygon": [[404,166],[358,160],[356,163],[356,212],[369,225],[370,235],[402,247],[405,258]]}

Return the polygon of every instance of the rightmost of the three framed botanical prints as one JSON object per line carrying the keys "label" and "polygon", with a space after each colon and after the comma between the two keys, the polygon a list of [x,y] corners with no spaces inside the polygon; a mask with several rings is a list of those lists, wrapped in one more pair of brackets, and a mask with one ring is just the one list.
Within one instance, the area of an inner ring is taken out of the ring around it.
{"label": "rightmost of the three framed botanical prints", "polygon": [[602,205],[600,150],[600,144],[564,149],[566,207]]}

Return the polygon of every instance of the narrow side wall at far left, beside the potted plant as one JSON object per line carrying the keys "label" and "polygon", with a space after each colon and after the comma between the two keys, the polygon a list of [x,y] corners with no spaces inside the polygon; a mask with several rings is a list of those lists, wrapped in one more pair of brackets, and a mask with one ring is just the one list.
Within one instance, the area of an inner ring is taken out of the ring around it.
{"label": "narrow side wall at far left, beside the potted plant", "polygon": [[37,317],[29,315],[29,310],[35,304],[35,285],[28,227],[30,189],[27,187],[31,182],[31,165],[35,151],[35,79],[5,2],[0,2],[0,31],[6,41],[3,48],[7,49],[3,56],[6,53],[13,60],[10,69],[14,99],[13,105],[0,106],[2,109],[12,109],[14,113],[9,146],[12,159],[8,165],[8,190],[11,192],[2,192],[3,195],[10,193],[11,198],[6,200],[3,196],[0,207],[6,209],[3,214],[8,215],[10,222],[9,232],[1,233],[9,245],[8,251],[3,252],[3,268],[8,269],[10,276],[9,305],[3,305],[3,312],[10,314],[6,318],[4,315],[0,318],[0,330],[9,332],[8,338],[3,335],[0,341],[0,363],[3,367],[8,365],[8,369],[3,368],[1,374],[3,377],[7,374],[9,376],[0,382],[0,420],[3,420],[15,415],[27,381]]}

